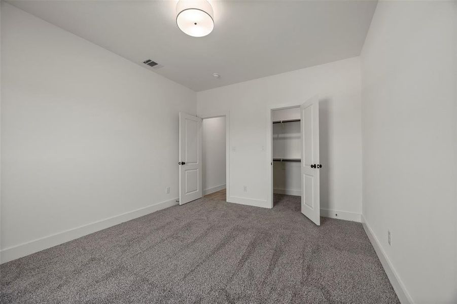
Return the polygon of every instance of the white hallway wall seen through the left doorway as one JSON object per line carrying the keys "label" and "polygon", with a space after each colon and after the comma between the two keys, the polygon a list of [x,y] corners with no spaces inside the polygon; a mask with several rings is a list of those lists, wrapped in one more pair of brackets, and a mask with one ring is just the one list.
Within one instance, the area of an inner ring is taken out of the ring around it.
{"label": "white hallway wall seen through the left doorway", "polygon": [[225,116],[203,119],[202,128],[202,183],[208,194],[225,188]]}

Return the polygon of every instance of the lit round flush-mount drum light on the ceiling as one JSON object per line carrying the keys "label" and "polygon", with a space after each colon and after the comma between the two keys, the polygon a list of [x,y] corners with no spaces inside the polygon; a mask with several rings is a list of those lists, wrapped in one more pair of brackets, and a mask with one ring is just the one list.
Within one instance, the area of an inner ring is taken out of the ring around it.
{"label": "lit round flush-mount drum light on the ceiling", "polygon": [[206,0],[180,0],[176,5],[178,27],[193,37],[203,37],[213,31],[213,7]]}

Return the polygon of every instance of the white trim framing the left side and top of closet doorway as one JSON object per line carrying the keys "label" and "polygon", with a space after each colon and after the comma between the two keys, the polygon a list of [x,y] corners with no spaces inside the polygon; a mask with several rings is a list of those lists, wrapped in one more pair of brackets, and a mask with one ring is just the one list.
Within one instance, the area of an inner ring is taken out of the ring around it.
{"label": "white trim framing the left side and top of closet doorway", "polygon": [[[267,142],[266,142],[266,151],[267,151],[267,166],[268,171],[268,192],[267,192],[267,207],[273,208],[273,110],[282,110],[288,108],[298,107],[300,108],[301,103],[299,101],[289,102],[279,105],[270,105],[268,106],[267,111]],[[301,131],[300,131],[301,133]]]}

